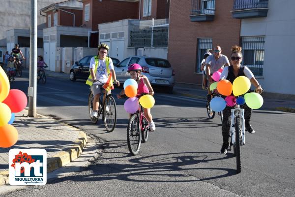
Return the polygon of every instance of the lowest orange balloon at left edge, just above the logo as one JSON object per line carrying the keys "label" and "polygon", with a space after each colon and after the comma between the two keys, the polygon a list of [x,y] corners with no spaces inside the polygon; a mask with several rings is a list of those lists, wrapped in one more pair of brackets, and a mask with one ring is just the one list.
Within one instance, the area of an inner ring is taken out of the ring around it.
{"label": "lowest orange balloon at left edge, just above the logo", "polygon": [[0,147],[8,148],[13,146],[18,140],[18,133],[14,126],[5,124],[0,127]]}

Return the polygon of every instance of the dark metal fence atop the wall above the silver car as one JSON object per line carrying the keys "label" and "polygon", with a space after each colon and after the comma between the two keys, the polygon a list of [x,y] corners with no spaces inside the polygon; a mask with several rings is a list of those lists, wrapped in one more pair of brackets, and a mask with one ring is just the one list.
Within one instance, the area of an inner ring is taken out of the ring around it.
{"label": "dark metal fence atop the wall above the silver car", "polygon": [[168,19],[133,22],[129,47],[168,47],[168,30]]}

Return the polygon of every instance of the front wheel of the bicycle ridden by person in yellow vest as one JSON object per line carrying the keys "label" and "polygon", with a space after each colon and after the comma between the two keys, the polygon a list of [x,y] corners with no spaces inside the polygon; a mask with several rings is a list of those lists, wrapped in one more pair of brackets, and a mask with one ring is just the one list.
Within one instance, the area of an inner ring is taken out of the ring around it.
{"label": "front wheel of the bicycle ridden by person in yellow vest", "polygon": [[103,120],[108,132],[114,131],[117,123],[117,107],[113,96],[107,96],[103,109]]}

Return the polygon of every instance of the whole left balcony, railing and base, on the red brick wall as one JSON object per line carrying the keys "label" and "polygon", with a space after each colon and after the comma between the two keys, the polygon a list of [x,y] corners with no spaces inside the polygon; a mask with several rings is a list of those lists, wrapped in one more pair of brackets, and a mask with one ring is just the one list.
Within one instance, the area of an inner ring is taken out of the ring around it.
{"label": "whole left balcony, railing and base, on the red brick wall", "polygon": [[213,21],[215,14],[215,0],[192,0],[191,21]]}

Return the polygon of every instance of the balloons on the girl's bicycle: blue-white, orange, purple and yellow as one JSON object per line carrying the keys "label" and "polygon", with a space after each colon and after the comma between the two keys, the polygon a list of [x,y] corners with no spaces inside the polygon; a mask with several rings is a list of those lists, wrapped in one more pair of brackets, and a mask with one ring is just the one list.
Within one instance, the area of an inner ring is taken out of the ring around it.
{"label": "balloons on the girl's bicycle: blue-white, orange, purple and yellow", "polygon": [[136,97],[138,84],[134,79],[126,80],[123,87],[126,96],[129,97],[124,103],[124,109],[127,113],[136,113],[139,110],[139,104],[146,109],[154,106],[155,99],[151,95],[143,95],[140,99]]}

